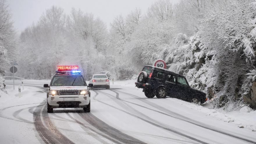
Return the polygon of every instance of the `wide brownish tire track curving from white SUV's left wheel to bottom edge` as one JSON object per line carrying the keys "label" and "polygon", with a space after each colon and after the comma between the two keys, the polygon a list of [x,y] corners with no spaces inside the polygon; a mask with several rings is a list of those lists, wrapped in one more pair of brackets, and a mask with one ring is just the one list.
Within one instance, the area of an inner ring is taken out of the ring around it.
{"label": "wide brownish tire track curving from white SUV's left wheel to bottom edge", "polygon": [[[43,124],[42,118],[46,124]],[[47,105],[38,106],[35,108],[33,112],[33,120],[35,124],[35,129],[38,131],[39,136],[45,143],[54,143],[54,144],[62,144],[62,143],[73,143],[63,134],[61,134],[55,127],[49,118],[47,113]],[[49,129],[48,129],[49,128]]]}

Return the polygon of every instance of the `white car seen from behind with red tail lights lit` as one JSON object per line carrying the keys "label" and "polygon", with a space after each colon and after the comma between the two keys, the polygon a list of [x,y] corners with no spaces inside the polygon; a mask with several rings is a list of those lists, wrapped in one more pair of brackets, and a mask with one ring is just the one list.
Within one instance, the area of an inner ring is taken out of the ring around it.
{"label": "white car seen from behind with red tail lights lit", "polygon": [[93,84],[93,88],[110,89],[109,78],[106,74],[93,74],[89,84]]}

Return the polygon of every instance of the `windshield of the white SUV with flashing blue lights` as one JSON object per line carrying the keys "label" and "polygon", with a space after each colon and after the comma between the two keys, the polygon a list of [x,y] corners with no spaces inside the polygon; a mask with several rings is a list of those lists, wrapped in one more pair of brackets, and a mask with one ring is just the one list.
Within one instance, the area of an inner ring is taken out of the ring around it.
{"label": "windshield of the white SUV with flashing blue lights", "polygon": [[86,86],[86,83],[79,75],[59,75],[53,78],[51,86]]}

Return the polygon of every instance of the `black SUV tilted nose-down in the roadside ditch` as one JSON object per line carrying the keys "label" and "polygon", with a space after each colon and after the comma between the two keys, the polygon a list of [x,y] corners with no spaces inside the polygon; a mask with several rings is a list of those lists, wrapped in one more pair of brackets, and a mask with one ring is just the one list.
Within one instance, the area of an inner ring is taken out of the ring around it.
{"label": "black SUV tilted nose-down in the roadside ditch", "polygon": [[135,85],[143,88],[148,98],[169,96],[197,104],[207,101],[206,94],[191,88],[183,75],[159,67],[145,65]]}

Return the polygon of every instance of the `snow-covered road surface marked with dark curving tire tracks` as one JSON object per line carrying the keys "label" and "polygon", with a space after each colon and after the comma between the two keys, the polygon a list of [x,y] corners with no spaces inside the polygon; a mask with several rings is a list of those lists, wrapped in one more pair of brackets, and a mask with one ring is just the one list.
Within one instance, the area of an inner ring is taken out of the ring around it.
{"label": "snow-covered road surface marked with dark curving tire tracks", "polygon": [[10,96],[0,98],[0,143],[256,143],[256,132],[198,111],[202,106],[148,99],[125,82],[91,90],[90,113],[47,113],[42,86],[50,81],[24,81],[22,97],[6,82]]}

